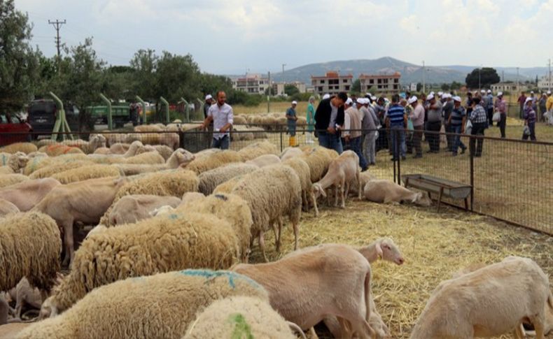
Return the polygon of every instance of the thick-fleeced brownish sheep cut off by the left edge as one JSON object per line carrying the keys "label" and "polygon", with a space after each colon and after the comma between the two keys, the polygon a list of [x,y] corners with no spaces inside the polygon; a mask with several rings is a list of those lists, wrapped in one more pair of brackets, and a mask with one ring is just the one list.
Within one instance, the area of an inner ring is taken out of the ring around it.
{"label": "thick-fleeced brownish sheep cut off by the left edge", "polygon": [[0,219],[0,291],[23,277],[50,291],[59,271],[62,238],[55,221],[39,212],[15,213]]}

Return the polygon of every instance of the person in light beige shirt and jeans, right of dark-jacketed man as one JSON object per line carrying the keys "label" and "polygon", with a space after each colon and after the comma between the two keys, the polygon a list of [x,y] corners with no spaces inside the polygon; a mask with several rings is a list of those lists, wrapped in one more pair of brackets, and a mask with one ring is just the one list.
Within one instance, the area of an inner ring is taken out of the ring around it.
{"label": "person in light beige shirt and jeans, right of dark-jacketed man", "polygon": [[[360,99],[358,99],[360,100]],[[360,107],[360,103],[357,105]],[[348,98],[344,103],[344,132],[342,143],[344,150],[352,150],[359,157],[359,166],[362,171],[367,171],[367,161],[361,152],[361,113],[353,107],[353,100]]]}

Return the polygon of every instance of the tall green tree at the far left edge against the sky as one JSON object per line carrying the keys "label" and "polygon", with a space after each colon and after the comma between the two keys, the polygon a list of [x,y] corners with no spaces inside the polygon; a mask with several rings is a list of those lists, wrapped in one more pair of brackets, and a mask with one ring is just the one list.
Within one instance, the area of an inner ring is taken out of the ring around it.
{"label": "tall green tree at the far left edge against the sky", "polygon": [[38,50],[29,45],[31,25],[13,0],[0,1],[0,110],[21,110],[40,85]]}

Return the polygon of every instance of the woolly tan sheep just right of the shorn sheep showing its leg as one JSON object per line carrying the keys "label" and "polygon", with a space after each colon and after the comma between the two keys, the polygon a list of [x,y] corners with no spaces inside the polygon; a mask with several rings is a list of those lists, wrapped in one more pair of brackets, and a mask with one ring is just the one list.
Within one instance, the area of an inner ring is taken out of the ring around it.
{"label": "woolly tan sheep just right of the shorn sheep showing its leg", "polygon": [[148,173],[133,179],[123,185],[117,192],[116,199],[106,210],[100,224],[113,226],[109,222],[111,210],[119,199],[130,194],[149,194],[155,196],[183,196],[186,192],[197,192],[198,178],[191,171],[176,169],[172,171],[161,171],[158,173]]}

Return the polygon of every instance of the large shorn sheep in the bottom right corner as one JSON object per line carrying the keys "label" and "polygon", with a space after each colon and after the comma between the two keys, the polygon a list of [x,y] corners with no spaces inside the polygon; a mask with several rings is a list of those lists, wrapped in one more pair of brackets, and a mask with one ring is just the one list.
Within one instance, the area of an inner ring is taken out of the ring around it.
{"label": "large shorn sheep in the bottom right corner", "polygon": [[419,338],[474,338],[514,333],[524,338],[529,322],[535,338],[553,330],[549,279],[535,261],[507,257],[477,271],[441,282],[411,333]]}

